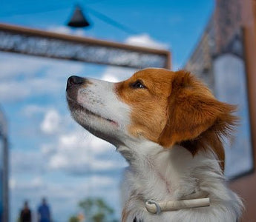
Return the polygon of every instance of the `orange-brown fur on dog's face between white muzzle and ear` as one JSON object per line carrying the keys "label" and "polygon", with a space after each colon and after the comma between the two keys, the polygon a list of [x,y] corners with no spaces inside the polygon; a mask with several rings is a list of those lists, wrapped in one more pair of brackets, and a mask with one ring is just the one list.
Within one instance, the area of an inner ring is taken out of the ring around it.
{"label": "orange-brown fur on dog's face between white muzzle and ear", "polygon": [[[134,89],[131,84],[142,81],[145,89]],[[157,143],[166,124],[167,98],[171,90],[170,71],[147,69],[116,84],[119,98],[131,107],[129,131]]]}

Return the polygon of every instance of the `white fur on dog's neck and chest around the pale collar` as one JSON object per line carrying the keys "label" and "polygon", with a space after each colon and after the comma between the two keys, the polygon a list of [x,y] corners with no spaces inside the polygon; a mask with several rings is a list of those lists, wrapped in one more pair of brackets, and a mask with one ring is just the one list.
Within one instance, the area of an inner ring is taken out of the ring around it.
{"label": "white fur on dog's neck and chest around the pale collar", "polygon": [[[220,165],[211,152],[194,157],[185,148],[164,149],[146,142],[136,149],[120,147],[133,157],[122,183],[122,198],[126,221],[236,221],[241,203],[226,186]],[[182,209],[152,215],[145,209],[145,201],[175,201],[186,199],[194,192],[209,193],[211,206]]]}

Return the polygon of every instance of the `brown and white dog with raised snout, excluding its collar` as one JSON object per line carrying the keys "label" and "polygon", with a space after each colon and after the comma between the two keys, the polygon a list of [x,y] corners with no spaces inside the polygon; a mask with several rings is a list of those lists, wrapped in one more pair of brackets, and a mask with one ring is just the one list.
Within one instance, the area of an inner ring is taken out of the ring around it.
{"label": "brown and white dog with raised snout, excluding its collar", "polygon": [[[239,220],[243,203],[223,175],[223,138],[237,124],[236,107],[196,76],[158,68],[118,83],[70,76],[66,95],[73,118],[128,161],[122,222]],[[145,207],[206,197],[210,206],[157,214]]]}

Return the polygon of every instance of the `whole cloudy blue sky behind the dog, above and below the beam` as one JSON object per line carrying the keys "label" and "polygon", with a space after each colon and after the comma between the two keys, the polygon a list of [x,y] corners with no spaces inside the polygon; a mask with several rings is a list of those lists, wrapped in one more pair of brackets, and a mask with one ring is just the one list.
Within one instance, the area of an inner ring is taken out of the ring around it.
{"label": "whole cloudy blue sky behind the dog, above and below the beam", "polygon": [[[110,41],[144,41],[171,50],[174,70],[183,66],[211,15],[214,1],[79,1],[93,26],[65,24],[77,1],[0,0],[0,22]],[[92,10],[134,30],[126,33],[93,16]],[[68,221],[76,203],[102,196],[119,213],[119,180],[125,161],[114,147],[88,135],[70,118],[65,102],[69,75],[105,80],[134,70],[0,53],[0,104],[9,121],[10,209],[16,220],[24,199],[33,210],[47,196],[55,221]]]}

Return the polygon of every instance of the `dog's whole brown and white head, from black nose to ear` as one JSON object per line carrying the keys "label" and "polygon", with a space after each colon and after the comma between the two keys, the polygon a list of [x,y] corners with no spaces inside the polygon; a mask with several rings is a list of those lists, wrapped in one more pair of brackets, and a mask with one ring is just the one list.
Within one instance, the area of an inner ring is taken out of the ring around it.
{"label": "dog's whole brown and white head, from black nose to ear", "polygon": [[67,99],[73,118],[112,144],[127,139],[181,144],[194,155],[211,147],[220,161],[235,107],[217,101],[194,75],[148,68],[119,83],[68,78]]}

